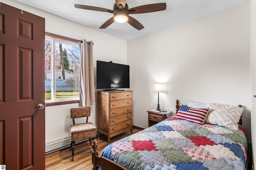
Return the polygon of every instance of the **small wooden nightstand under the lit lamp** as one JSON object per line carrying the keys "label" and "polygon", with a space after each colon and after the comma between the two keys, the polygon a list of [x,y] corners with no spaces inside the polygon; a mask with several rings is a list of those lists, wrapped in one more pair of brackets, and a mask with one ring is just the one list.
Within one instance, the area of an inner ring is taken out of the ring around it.
{"label": "small wooden nightstand under the lit lamp", "polygon": [[148,110],[148,127],[172,116],[172,111],[159,112],[156,109]]}

